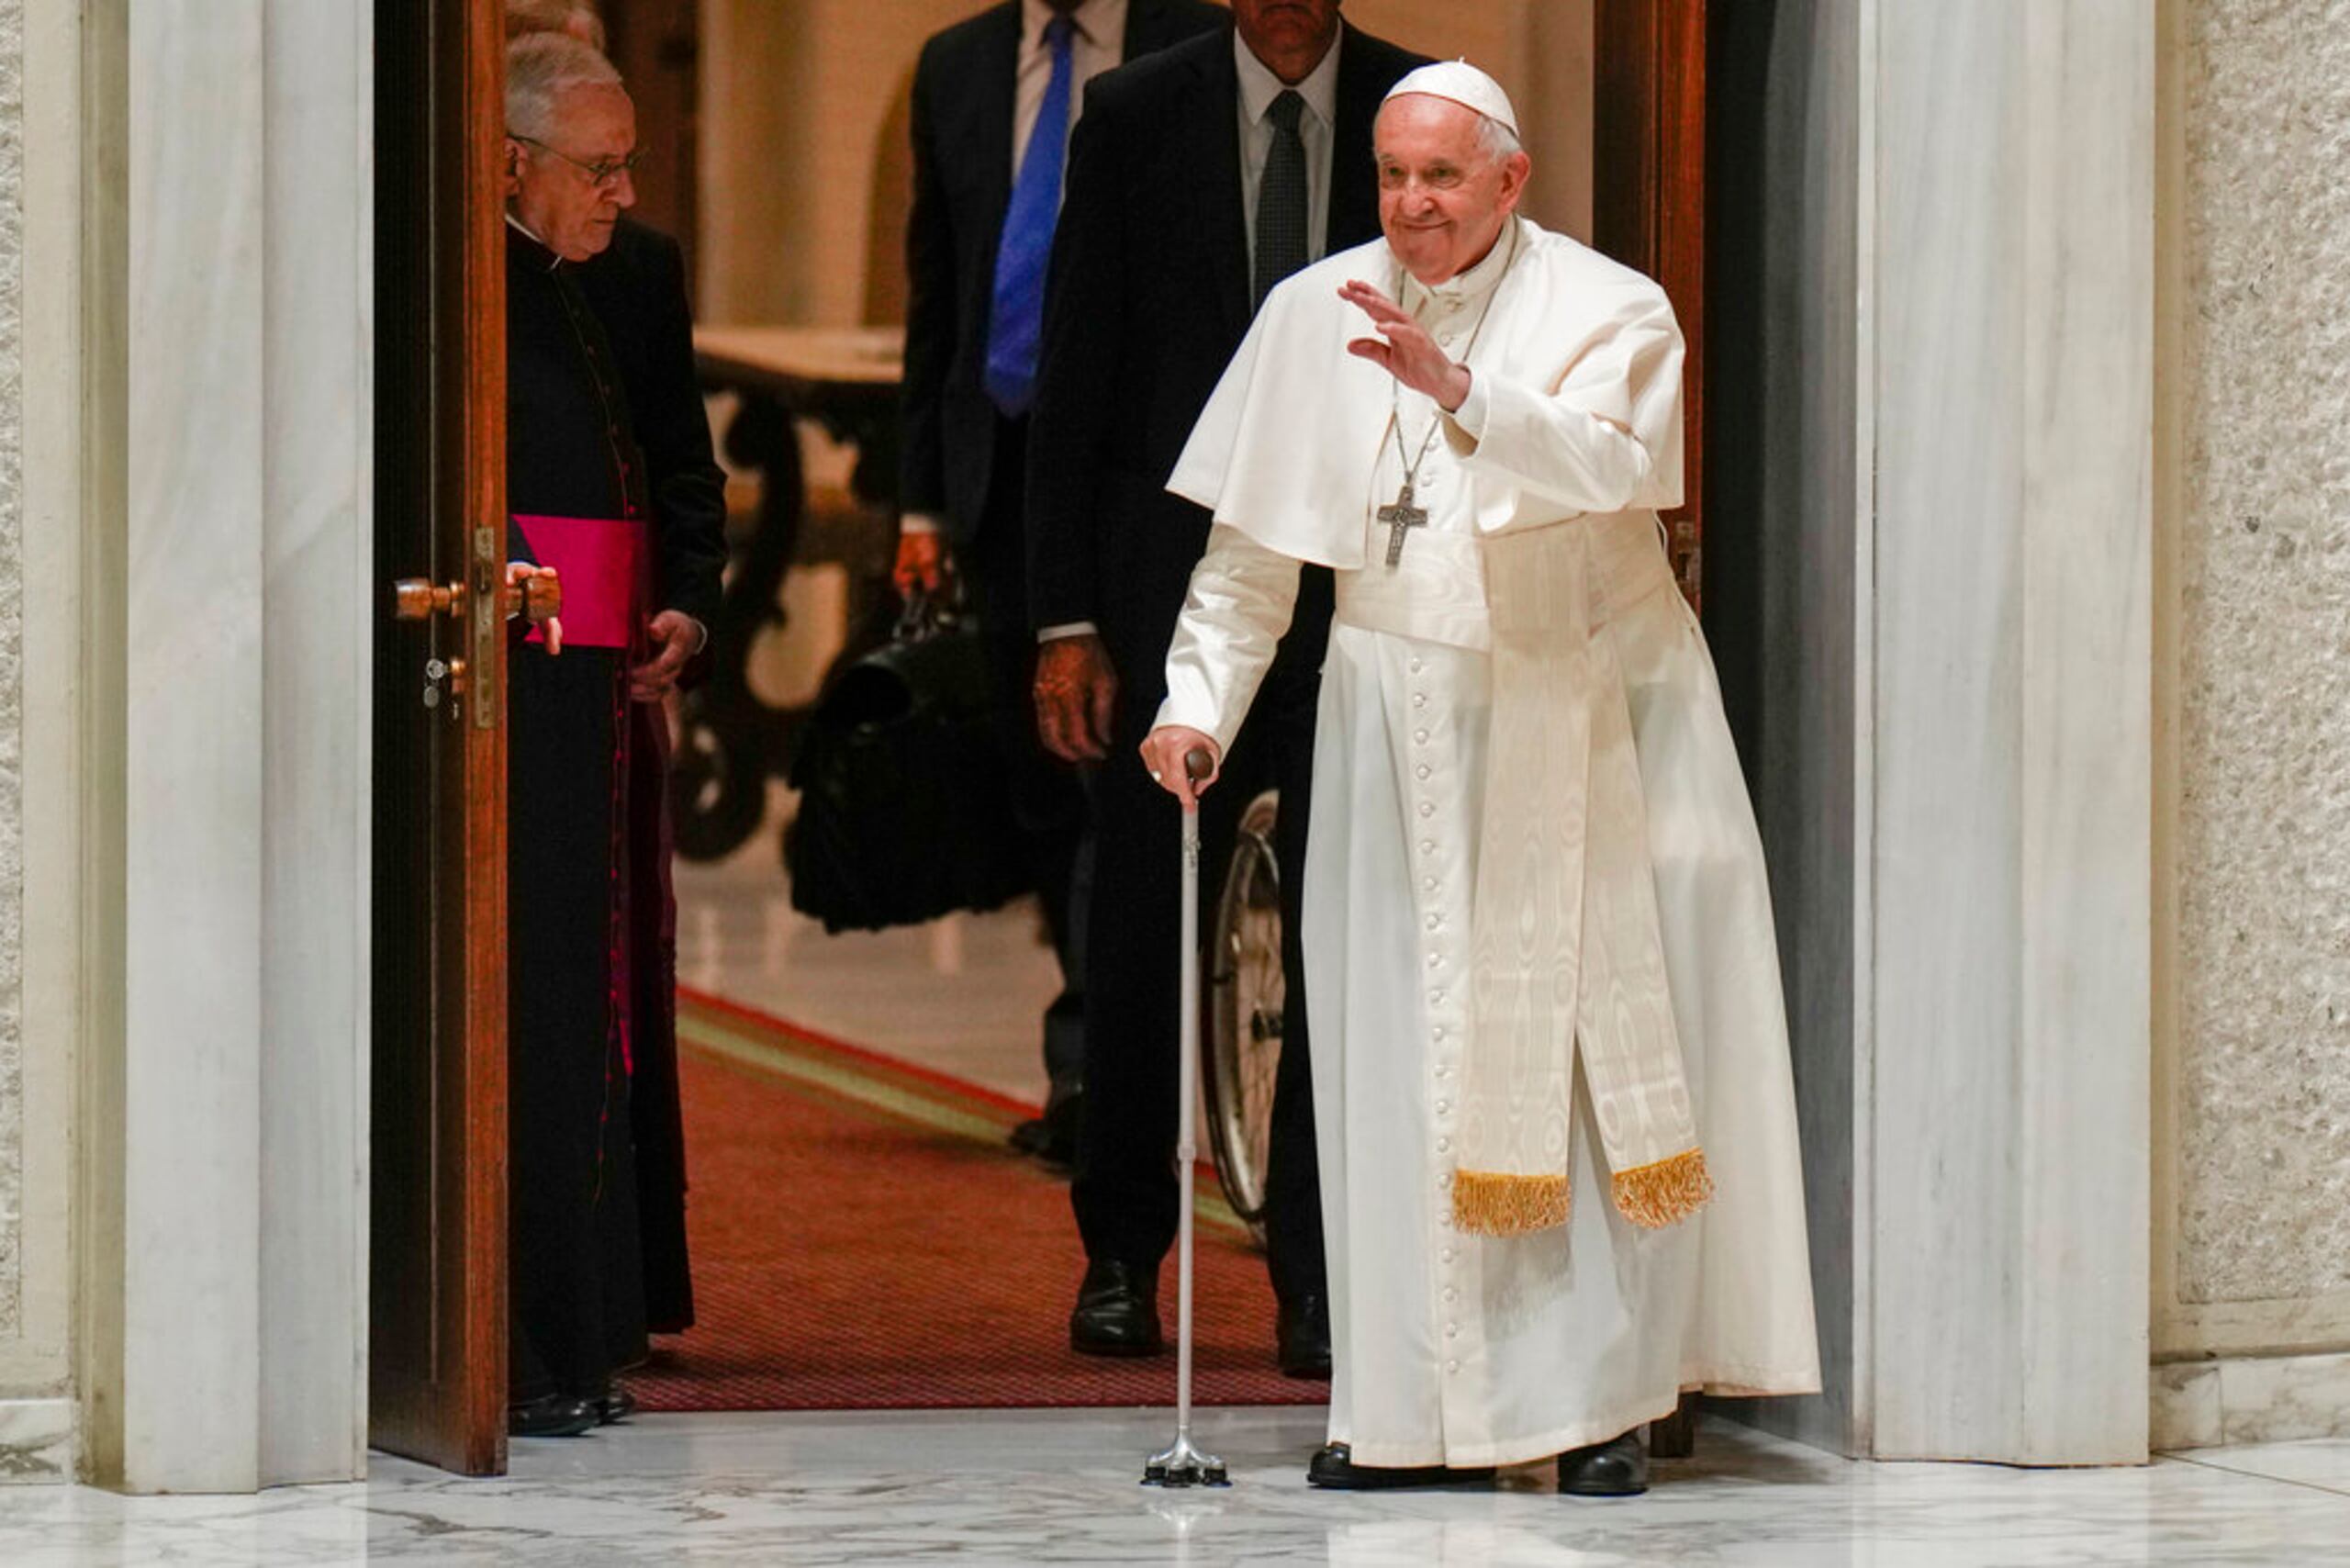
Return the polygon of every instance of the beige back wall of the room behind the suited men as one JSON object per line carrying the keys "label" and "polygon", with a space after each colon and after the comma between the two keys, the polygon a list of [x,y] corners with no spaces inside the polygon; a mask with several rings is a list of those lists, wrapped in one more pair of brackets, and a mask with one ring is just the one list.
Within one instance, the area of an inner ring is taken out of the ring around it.
{"label": "beige back wall of the room behind the suited men", "polygon": [[[1370,33],[1488,66],[1537,160],[1528,209],[1591,230],[1593,0],[1349,0]],[[971,0],[703,0],[700,315],[898,320],[905,101]]]}

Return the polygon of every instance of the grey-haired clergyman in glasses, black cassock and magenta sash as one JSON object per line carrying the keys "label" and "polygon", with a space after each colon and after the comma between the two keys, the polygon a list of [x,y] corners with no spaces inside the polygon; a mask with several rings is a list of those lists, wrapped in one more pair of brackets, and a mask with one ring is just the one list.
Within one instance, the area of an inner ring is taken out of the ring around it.
{"label": "grey-haired clergyman in glasses, black cassock and magenta sash", "polygon": [[[564,646],[517,623],[508,665],[508,1429],[566,1436],[625,1413],[611,1373],[646,1349],[634,1074],[642,1046],[667,1044],[672,994],[644,940],[665,886],[660,776],[639,764],[705,628],[660,581],[674,541],[583,280],[634,202],[634,106],[611,61],[559,33],[517,38],[505,66],[508,555],[564,581]],[[660,268],[606,299],[639,348],[682,331],[625,310],[646,280]],[[639,357],[651,388],[663,360]]]}

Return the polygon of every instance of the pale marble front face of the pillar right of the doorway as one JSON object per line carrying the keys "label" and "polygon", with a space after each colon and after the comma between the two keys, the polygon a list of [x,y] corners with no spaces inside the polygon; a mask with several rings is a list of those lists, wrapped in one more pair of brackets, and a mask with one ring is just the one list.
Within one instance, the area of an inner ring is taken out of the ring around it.
{"label": "pale marble front face of the pillar right of the doorway", "polygon": [[1873,1453],[2146,1453],[2153,16],[1875,7]]}

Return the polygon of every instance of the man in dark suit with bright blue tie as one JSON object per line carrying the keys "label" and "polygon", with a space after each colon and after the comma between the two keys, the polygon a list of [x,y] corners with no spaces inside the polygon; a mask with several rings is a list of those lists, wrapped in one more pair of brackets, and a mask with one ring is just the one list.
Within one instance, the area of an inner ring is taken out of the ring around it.
{"label": "man in dark suit with bright blue tie", "polygon": [[1043,1018],[1046,1114],[1013,1143],[1053,1164],[1076,1154],[1086,1067],[1088,809],[1076,773],[1039,748],[1029,708],[1022,510],[1046,261],[1086,82],[1220,19],[1201,0],[1006,0],[931,38],[914,71],[895,576],[900,592],[935,592],[952,550],[980,616],[1018,830],[1062,969]]}

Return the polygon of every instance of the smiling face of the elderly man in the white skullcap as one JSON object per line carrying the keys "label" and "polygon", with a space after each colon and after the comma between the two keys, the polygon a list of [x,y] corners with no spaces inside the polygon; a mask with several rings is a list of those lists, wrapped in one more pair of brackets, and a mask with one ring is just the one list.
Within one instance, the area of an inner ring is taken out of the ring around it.
{"label": "smiling face of the elderly man in the white skullcap", "polygon": [[1525,153],[1485,150],[1473,108],[1424,92],[1386,101],[1372,146],[1386,247],[1431,287],[1483,261],[1532,169]]}

